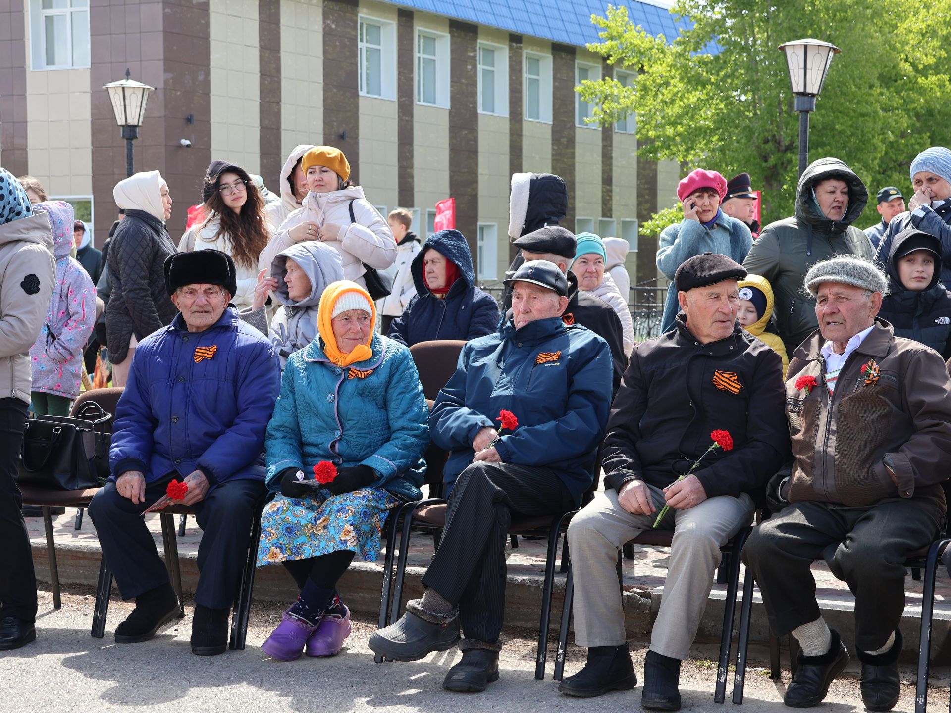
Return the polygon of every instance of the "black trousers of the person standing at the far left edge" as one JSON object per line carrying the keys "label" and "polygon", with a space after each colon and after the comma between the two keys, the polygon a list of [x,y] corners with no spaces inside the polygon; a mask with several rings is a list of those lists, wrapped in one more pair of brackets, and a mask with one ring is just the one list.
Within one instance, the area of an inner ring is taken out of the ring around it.
{"label": "black trousers of the person standing at the far left edge", "polygon": [[27,404],[0,398],[0,619],[36,621],[36,574],[23,520],[23,497],[16,487]]}

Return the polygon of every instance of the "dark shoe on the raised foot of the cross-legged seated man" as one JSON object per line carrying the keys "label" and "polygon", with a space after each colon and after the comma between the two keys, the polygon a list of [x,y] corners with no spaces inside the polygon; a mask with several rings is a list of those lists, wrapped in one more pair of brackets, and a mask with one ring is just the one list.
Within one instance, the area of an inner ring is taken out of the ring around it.
{"label": "dark shoe on the raised foot of the cross-legged seated man", "polygon": [[394,661],[417,661],[433,651],[446,651],[459,641],[459,607],[445,615],[419,607],[419,599],[406,603],[406,613],[396,623],[370,635],[370,649]]}

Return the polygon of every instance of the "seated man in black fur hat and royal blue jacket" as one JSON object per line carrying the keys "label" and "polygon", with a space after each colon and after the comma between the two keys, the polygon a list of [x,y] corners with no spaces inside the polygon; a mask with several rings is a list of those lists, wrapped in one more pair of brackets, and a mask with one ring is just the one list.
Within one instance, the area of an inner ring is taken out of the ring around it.
{"label": "seated man in black fur hat and royal blue jacket", "polygon": [[264,431],[281,366],[270,343],[228,302],[235,266],[219,250],[165,260],[165,288],[179,315],[139,342],[116,407],[112,475],[89,504],[99,542],[124,599],[135,608],[115,640],[151,639],[179,601],[142,513],[184,482],[184,505],[204,530],[198,549],[191,650],[222,653],[228,611],[264,495]]}

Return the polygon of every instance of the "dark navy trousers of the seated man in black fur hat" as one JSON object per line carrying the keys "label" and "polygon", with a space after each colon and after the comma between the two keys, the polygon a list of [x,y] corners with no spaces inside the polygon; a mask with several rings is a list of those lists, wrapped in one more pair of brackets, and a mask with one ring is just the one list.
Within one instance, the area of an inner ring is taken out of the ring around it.
{"label": "dark navy trousers of the seated man in black fur hat", "polygon": [[[89,503],[89,517],[123,599],[168,584],[168,570],[142,512],[165,494],[173,477],[180,476],[172,473],[146,485],[145,503],[123,497],[112,481]],[[251,523],[260,512],[264,491],[261,480],[230,480],[208,491],[196,505],[195,520],[202,529],[197,604],[225,609],[234,602],[247,559]]]}

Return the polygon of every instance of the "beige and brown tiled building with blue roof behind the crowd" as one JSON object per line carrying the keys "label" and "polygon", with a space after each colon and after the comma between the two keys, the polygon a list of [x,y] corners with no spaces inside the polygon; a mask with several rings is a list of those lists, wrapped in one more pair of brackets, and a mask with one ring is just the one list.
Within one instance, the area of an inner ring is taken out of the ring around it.
{"label": "beige and brown tiled building with blue roof behind the crowd", "polygon": [[[631,17],[676,32],[667,10]],[[510,261],[516,172],[569,186],[575,232],[631,242],[633,281],[656,277],[637,225],[670,204],[676,164],[637,156],[634,118],[601,128],[574,87],[616,71],[584,47],[597,0],[0,0],[0,164],[77,206],[102,244],[126,146],[101,87],[155,87],[136,170],[158,169],[176,205],[169,232],[201,201],[212,159],[261,174],[273,191],[299,144],[336,145],[384,215],[410,208],[432,231],[456,199],[478,277]],[[539,10],[544,10],[539,13]],[[190,146],[185,147],[185,139]],[[633,278],[636,274],[636,280]]]}

